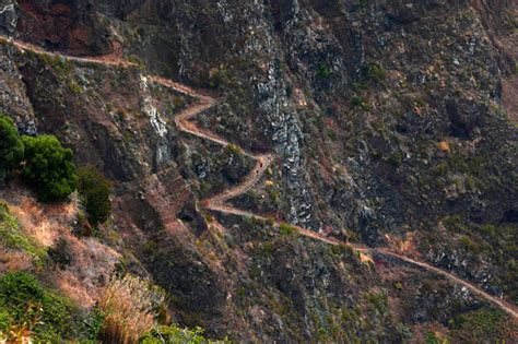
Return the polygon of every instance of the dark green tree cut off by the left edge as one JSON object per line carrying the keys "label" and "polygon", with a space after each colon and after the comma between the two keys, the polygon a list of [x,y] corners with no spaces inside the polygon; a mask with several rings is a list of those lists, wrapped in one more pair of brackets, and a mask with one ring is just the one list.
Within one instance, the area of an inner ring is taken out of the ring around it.
{"label": "dark green tree cut off by the left edge", "polygon": [[0,185],[24,156],[24,145],[11,118],[0,115]]}

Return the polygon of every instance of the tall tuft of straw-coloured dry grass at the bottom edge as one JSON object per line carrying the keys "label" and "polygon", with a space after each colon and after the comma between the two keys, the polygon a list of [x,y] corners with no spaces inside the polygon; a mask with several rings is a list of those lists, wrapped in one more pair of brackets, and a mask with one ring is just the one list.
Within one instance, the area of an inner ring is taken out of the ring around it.
{"label": "tall tuft of straw-coloured dry grass at the bottom edge", "polygon": [[154,325],[156,311],[164,303],[164,292],[148,281],[131,275],[113,280],[99,303],[107,315],[99,340],[137,343]]}

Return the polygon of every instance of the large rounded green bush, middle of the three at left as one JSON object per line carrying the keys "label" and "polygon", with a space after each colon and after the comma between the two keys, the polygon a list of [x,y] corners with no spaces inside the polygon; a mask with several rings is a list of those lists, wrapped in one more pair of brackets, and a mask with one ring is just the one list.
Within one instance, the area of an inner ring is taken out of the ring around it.
{"label": "large rounded green bush, middle of the three at left", "polygon": [[56,137],[22,137],[25,144],[23,177],[36,189],[42,201],[66,199],[78,187],[73,153]]}

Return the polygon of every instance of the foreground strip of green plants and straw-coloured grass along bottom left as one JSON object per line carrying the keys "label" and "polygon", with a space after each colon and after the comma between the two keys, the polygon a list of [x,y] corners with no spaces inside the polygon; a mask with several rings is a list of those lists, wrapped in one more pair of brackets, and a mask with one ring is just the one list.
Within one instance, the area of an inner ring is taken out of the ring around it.
{"label": "foreground strip of green plants and straw-coloured grass along bottom left", "polygon": [[[121,342],[126,342],[128,339],[132,339],[131,342],[137,341],[138,336],[136,335],[140,332],[134,332],[136,328],[141,324],[146,325],[148,318],[153,323],[155,317],[155,311],[151,308],[139,308],[142,306],[139,301],[144,300],[144,304],[145,300],[151,301],[151,298],[156,296],[153,294],[157,289],[153,285],[146,284],[146,282],[140,282],[139,278],[130,276],[115,280],[115,283],[117,292],[121,292],[121,288],[126,292],[132,289],[138,295],[122,293],[122,301],[119,298],[111,298],[111,303],[117,305],[116,309],[94,307],[90,313],[81,315],[81,311],[71,301],[42,285],[36,276],[30,273],[8,273],[1,276],[0,342],[5,340],[9,343],[19,343],[28,337],[35,343],[61,343],[63,340],[81,343],[95,343],[98,340],[106,342],[106,331],[115,330],[117,330],[117,339],[123,339]],[[163,298],[160,298],[160,301],[164,301]],[[106,305],[103,304],[103,306]],[[151,306],[151,304],[148,306]],[[131,311],[131,313],[128,311]],[[123,318],[119,318],[120,316],[123,316]],[[123,321],[123,323],[119,323],[114,328],[114,319]],[[152,330],[143,333],[139,342],[154,344],[225,343],[226,341],[207,340],[201,328],[188,329],[172,324],[153,325]]]}

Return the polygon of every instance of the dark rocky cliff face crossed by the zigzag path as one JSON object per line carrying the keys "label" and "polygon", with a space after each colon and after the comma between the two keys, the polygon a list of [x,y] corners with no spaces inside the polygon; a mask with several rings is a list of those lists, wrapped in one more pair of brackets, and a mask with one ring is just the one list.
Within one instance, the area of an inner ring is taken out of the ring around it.
{"label": "dark rocky cliff face crossed by the zigzag path", "polygon": [[487,305],[433,274],[200,211],[197,200],[239,183],[252,162],[180,133],[174,116],[195,100],[145,75],[211,92],[220,102],[200,127],[275,154],[236,206],[398,247],[516,303],[514,7],[19,0],[0,14],[15,39],[136,64],[2,43],[0,110],[114,180],[105,235],[120,236],[111,245],[128,270],[168,290],[183,324],[237,341],[459,340],[469,329],[451,319]]}

